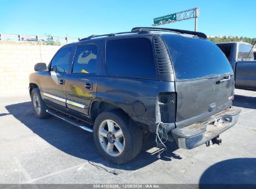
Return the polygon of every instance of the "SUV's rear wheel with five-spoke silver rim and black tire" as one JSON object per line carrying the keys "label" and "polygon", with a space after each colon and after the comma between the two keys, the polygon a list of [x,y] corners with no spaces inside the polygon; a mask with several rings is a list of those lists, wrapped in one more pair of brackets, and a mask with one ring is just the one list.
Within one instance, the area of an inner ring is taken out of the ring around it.
{"label": "SUV's rear wheel with five-spoke silver rim and black tire", "polygon": [[118,110],[98,115],[93,126],[93,137],[102,157],[113,164],[125,164],[134,159],[143,144],[140,127]]}

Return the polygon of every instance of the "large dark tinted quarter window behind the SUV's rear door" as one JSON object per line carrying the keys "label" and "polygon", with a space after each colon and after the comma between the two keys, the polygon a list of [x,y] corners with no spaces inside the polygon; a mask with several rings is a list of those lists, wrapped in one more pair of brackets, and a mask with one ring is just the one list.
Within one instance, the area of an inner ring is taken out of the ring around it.
{"label": "large dark tinted quarter window behind the SUV's rear door", "polygon": [[145,38],[109,40],[106,47],[110,75],[156,79],[151,41]]}

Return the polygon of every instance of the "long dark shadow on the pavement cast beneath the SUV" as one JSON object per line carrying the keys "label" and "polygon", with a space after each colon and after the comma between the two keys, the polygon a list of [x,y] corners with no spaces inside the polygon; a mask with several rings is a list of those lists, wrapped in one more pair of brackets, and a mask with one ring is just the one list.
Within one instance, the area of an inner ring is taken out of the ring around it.
{"label": "long dark shadow on the pavement cast beneath the SUV", "polygon": [[[91,133],[74,127],[58,118],[36,118],[32,112],[31,102],[11,104],[6,106],[6,109],[16,119],[49,144],[67,154],[88,160],[90,164],[103,164],[107,167],[120,170],[136,170],[158,160],[156,157],[158,153],[154,154],[153,149],[153,147],[156,147],[154,134],[146,138],[145,144],[143,144],[143,150],[141,150],[140,154],[134,160],[124,165],[114,165],[102,159],[95,147]],[[168,142],[167,147],[168,150],[161,154],[162,160],[181,159],[179,155],[174,154],[174,150],[178,149],[175,142]],[[95,166],[99,167],[98,165]]]}

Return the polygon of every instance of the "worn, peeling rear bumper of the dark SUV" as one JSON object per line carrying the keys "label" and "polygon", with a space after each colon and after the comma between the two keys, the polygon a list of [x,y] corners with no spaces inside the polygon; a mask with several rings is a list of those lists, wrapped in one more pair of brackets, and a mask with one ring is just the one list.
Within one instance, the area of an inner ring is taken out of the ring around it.
{"label": "worn, peeling rear bumper of the dark SUV", "polygon": [[220,133],[234,126],[239,118],[240,109],[229,108],[190,126],[171,131],[179,148],[192,149],[219,136]]}

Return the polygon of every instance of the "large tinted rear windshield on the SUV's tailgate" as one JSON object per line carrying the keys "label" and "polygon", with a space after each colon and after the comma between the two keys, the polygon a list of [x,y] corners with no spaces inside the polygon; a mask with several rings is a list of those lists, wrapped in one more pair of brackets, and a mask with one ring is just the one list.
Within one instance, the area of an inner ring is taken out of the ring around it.
{"label": "large tinted rear windshield on the SUV's tailgate", "polygon": [[209,40],[162,35],[173,63],[176,80],[232,73],[224,53]]}

